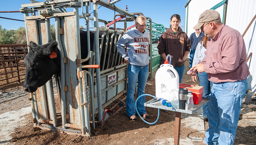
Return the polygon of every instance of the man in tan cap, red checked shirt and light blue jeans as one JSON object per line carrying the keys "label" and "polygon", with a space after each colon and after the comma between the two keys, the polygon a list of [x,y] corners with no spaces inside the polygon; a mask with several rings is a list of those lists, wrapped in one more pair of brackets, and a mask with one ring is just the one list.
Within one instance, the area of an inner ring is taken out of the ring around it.
{"label": "man in tan cap, red checked shirt and light blue jeans", "polygon": [[207,37],[206,57],[190,75],[208,73],[212,82],[208,108],[209,129],[203,141],[194,145],[234,144],[242,100],[250,75],[246,63],[246,48],[241,34],[221,22],[216,10],[203,12],[194,29],[201,29]]}

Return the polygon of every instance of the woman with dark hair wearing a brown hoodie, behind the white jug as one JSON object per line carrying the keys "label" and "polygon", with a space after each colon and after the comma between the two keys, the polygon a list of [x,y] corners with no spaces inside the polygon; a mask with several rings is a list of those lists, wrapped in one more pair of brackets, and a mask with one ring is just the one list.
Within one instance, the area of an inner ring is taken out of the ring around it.
{"label": "woman with dark hair wearing a brown hoodie, behind the white jug", "polygon": [[174,14],[171,17],[170,28],[162,34],[158,40],[158,53],[162,56],[162,64],[166,60],[166,56],[171,55],[171,65],[179,74],[179,83],[181,83],[184,71],[185,61],[189,55],[191,42],[188,35],[179,27],[180,16]]}

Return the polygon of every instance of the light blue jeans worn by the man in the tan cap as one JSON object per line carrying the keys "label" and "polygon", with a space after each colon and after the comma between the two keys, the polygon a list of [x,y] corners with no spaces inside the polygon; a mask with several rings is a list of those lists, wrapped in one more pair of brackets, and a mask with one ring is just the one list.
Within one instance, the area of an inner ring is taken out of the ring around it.
{"label": "light blue jeans worn by the man in the tan cap", "polygon": [[233,145],[247,79],[236,82],[213,83],[208,106],[209,129],[204,143]]}

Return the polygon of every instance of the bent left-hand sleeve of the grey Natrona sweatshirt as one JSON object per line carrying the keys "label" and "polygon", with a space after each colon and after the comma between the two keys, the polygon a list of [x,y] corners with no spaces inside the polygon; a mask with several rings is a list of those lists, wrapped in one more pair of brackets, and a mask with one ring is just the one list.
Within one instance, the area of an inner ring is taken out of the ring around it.
{"label": "bent left-hand sleeve of the grey Natrona sweatshirt", "polygon": [[122,36],[118,42],[116,43],[116,48],[119,52],[119,54],[122,56],[122,58],[124,58],[125,60],[128,57],[128,55],[126,54],[125,52],[125,46],[126,46],[126,43],[129,42],[129,35],[125,34],[124,36]]}

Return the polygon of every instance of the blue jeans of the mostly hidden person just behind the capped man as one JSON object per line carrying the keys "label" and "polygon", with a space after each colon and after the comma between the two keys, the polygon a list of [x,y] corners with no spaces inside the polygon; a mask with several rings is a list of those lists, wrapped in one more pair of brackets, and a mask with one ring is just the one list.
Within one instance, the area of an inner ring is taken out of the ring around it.
{"label": "blue jeans of the mostly hidden person just behind the capped man", "polygon": [[[202,97],[206,97],[209,98],[210,92],[211,92],[211,83],[208,80],[208,75],[205,72],[202,73],[197,73],[198,75],[198,79],[199,79],[199,83],[200,86],[204,87],[204,93]],[[208,105],[209,103],[207,103],[205,106],[203,106],[203,116],[205,116],[206,118],[208,118]]]}

